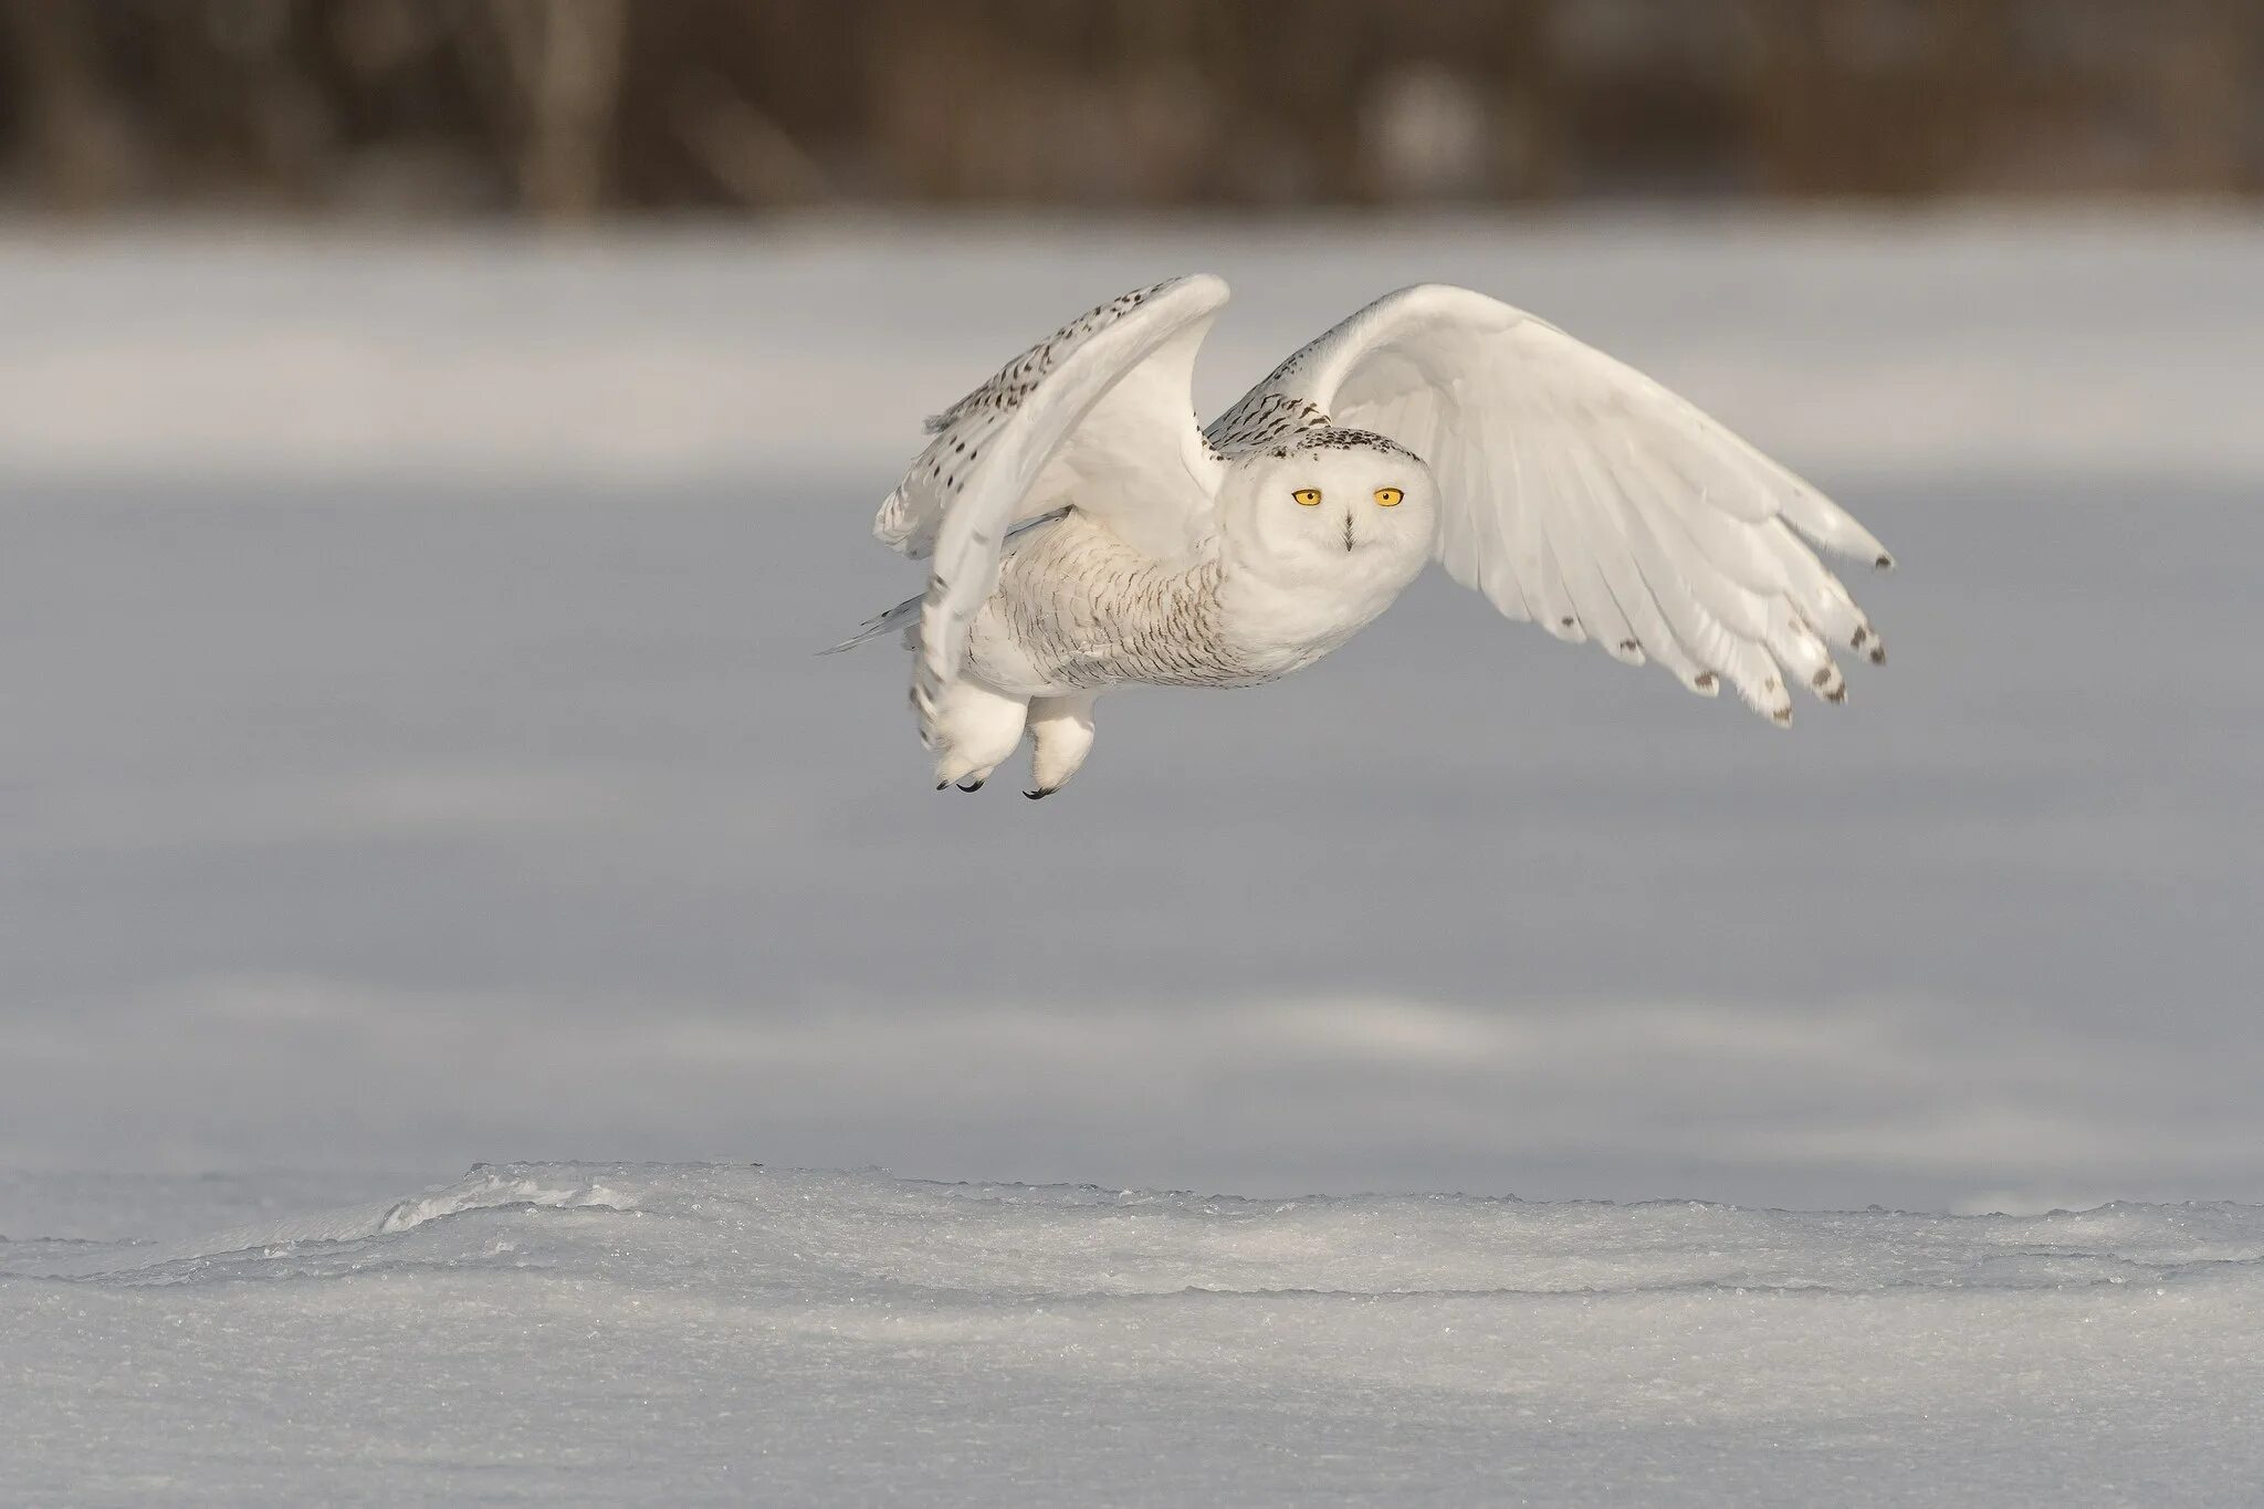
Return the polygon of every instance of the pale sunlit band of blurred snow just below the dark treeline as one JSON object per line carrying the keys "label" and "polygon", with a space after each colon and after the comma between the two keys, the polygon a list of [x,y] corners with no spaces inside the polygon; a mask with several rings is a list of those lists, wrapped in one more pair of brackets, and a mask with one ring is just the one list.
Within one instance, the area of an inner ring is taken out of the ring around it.
{"label": "pale sunlit band of blurred snow just below the dark treeline", "polygon": [[[2246,215],[813,219],[595,240],[0,238],[25,473],[894,482],[919,419],[1127,287],[1218,271],[1225,407],[1379,292],[1465,283],[1800,464],[2264,475]],[[854,620],[851,620],[854,622]]]}

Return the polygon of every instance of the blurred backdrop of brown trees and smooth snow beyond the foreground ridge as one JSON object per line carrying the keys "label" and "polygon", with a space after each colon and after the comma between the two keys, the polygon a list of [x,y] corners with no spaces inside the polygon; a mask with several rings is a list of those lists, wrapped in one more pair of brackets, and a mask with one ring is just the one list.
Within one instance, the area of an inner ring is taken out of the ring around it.
{"label": "blurred backdrop of brown trees and smooth snow beyond the foreground ridge", "polygon": [[[2264,1199],[2264,7],[0,5],[0,1233],[475,1158]],[[1444,579],[935,794],[919,419],[1444,278],[1854,509],[1777,733]],[[408,1181],[408,1183],[403,1183]]]}

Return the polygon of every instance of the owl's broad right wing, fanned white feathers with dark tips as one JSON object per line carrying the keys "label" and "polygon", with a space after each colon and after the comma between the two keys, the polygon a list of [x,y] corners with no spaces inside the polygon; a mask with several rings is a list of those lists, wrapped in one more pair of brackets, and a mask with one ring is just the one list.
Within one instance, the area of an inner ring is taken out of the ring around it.
{"label": "owl's broad right wing, fanned white feathers with dark tips", "polygon": [[[1508,618],[1657,661],[1712,697],[1793,717],[1841,701],[1827,645],[1886,647],[1811,545],[1890,566],[1838,505],[1644,373],[1463,287],[1386,294],[1284,362],[1245,407],[1295,396],[1431,464],[1438,557]],[[1218,428],[1214,425],[1214,430]]]}

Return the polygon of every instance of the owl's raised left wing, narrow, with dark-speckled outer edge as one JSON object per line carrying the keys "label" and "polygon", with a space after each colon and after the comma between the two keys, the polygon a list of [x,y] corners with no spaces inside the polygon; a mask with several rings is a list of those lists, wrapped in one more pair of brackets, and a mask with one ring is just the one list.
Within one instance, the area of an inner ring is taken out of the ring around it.
{"label": "owl's raised left wing, narrow, with dark-speckled outer edge", "polygon": [[1112,299],[928,421],[935,439],[874,520],[883,543],[933,557],[912,670],[921,738],[1017,523],[1075,507],[1159,559],[1200,538],[1218,462],[1195,428],[1191,382],[1225,301],[1227,285],[1207,274]]}

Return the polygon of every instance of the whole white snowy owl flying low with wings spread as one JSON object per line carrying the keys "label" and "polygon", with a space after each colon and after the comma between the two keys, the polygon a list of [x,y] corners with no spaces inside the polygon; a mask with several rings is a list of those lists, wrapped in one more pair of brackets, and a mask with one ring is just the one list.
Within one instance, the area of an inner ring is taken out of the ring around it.
{"label": "whole white snowy owl flying low with wings spread", "polygon": [[1524,310],[1420,285],[1281,362],[1209,428],[1186,276],[1103,303],[928,421],[874,534],[931,559],[901,629],[935,790],[1032,742],[1026,796],[1094,749],[1094,699],[1259,685],[1329,654],[1438,559],[1506,615],[1721,681],[1789,724],[1827,645],[1886,647],[1811,545],[1886,568],[1854,518],[1639,371]]}

